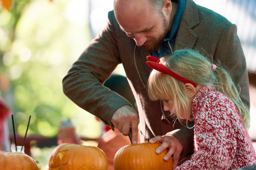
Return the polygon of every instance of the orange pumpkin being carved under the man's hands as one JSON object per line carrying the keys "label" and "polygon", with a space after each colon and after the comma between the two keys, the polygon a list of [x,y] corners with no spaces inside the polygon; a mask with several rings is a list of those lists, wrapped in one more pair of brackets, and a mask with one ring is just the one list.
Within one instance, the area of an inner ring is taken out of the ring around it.
{"label": "orange pumpkin being carved under the man's hands", "polygon": [[119,149],[114,158],[115,170],[170,170],[172,169],[172,158],[164,161],[165,149],[156,154],[156,149],[161,143],[150,144],[149,142],[130,144]]}

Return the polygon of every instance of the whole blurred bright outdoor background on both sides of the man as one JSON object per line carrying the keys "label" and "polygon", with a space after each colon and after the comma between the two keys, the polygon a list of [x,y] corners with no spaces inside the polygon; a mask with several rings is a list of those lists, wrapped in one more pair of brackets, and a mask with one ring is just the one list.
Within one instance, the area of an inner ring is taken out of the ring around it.
{"label": "whole blurred bright outdoor background on both sides of the man", "polygon": [[[256,1],[194,2],[237,25],[249,73],[249,133],[256,142]],[[85,145],[97,146],[104,133],[101,122],[63,94],[62,79],[105,26],[111,10],[113,0],[13,0],[10,12],[0,6],[0,96],[14,115],[18,145],[32,116],[25,151],[42,169],[57,145],[61,122],[72,122]],[[122,64],[114,74],[125,76]],[[9,117],[5,130],[13,136]]]}

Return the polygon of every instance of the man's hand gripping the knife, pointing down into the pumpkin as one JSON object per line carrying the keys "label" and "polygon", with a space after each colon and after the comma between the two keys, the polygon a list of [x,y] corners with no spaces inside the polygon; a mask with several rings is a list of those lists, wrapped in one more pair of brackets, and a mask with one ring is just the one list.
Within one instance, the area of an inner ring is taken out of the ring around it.
{"label": "man's hand gripping the knife, pointing down into the pumpkin", "polygon": [[125,105],[117,109],[112,116],[111,122],[125,136],[128,136],[131,127],[132,143],[136,144],[138,142],[139,115],[131,106]]}

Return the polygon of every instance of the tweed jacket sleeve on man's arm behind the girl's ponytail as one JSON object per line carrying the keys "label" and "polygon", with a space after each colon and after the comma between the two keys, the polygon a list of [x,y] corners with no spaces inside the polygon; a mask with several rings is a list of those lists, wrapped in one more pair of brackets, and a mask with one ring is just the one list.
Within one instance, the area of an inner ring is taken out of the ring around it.
{"label": "tweed jacket sleeve on man's arm behind the girl's ponytail", "polygon": [[229,70],[238,92],[241,90],[239,96],[242,102],[250,110],[248,72],[236,25],[226,26],[213,59]]}

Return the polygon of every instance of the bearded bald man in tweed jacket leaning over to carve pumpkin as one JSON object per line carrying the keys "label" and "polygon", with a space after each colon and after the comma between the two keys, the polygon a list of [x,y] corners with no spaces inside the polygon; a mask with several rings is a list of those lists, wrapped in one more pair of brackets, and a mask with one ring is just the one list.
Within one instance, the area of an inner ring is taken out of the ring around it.
{"label": "bearded bald man in tweed jacket leaning over to carve pumpkin", "polygon": [[[172,142],[162,140],[159,152],[169,148],[164,160],[173,154],[174,169],[179,159],[193,153],[193,129],[162,111],[160,101],[149,100],[146,84],[151,68],[146,56],[161,57],[183,48],[199,50],[230,70],[241,87],[241,99],[249,107],[245,57],[236,26],[224,17],[192,0],[115,0],[108,19],[107,26],[63,79],[63,91],[112,129],[114,126],[128,135],[131,126],[134,143],[139,121],[141,142],[151,138],[161,141],[162,135],[168,136]],[[124,98],[102,86],[119,63],[126,71],[139,115]]]}

